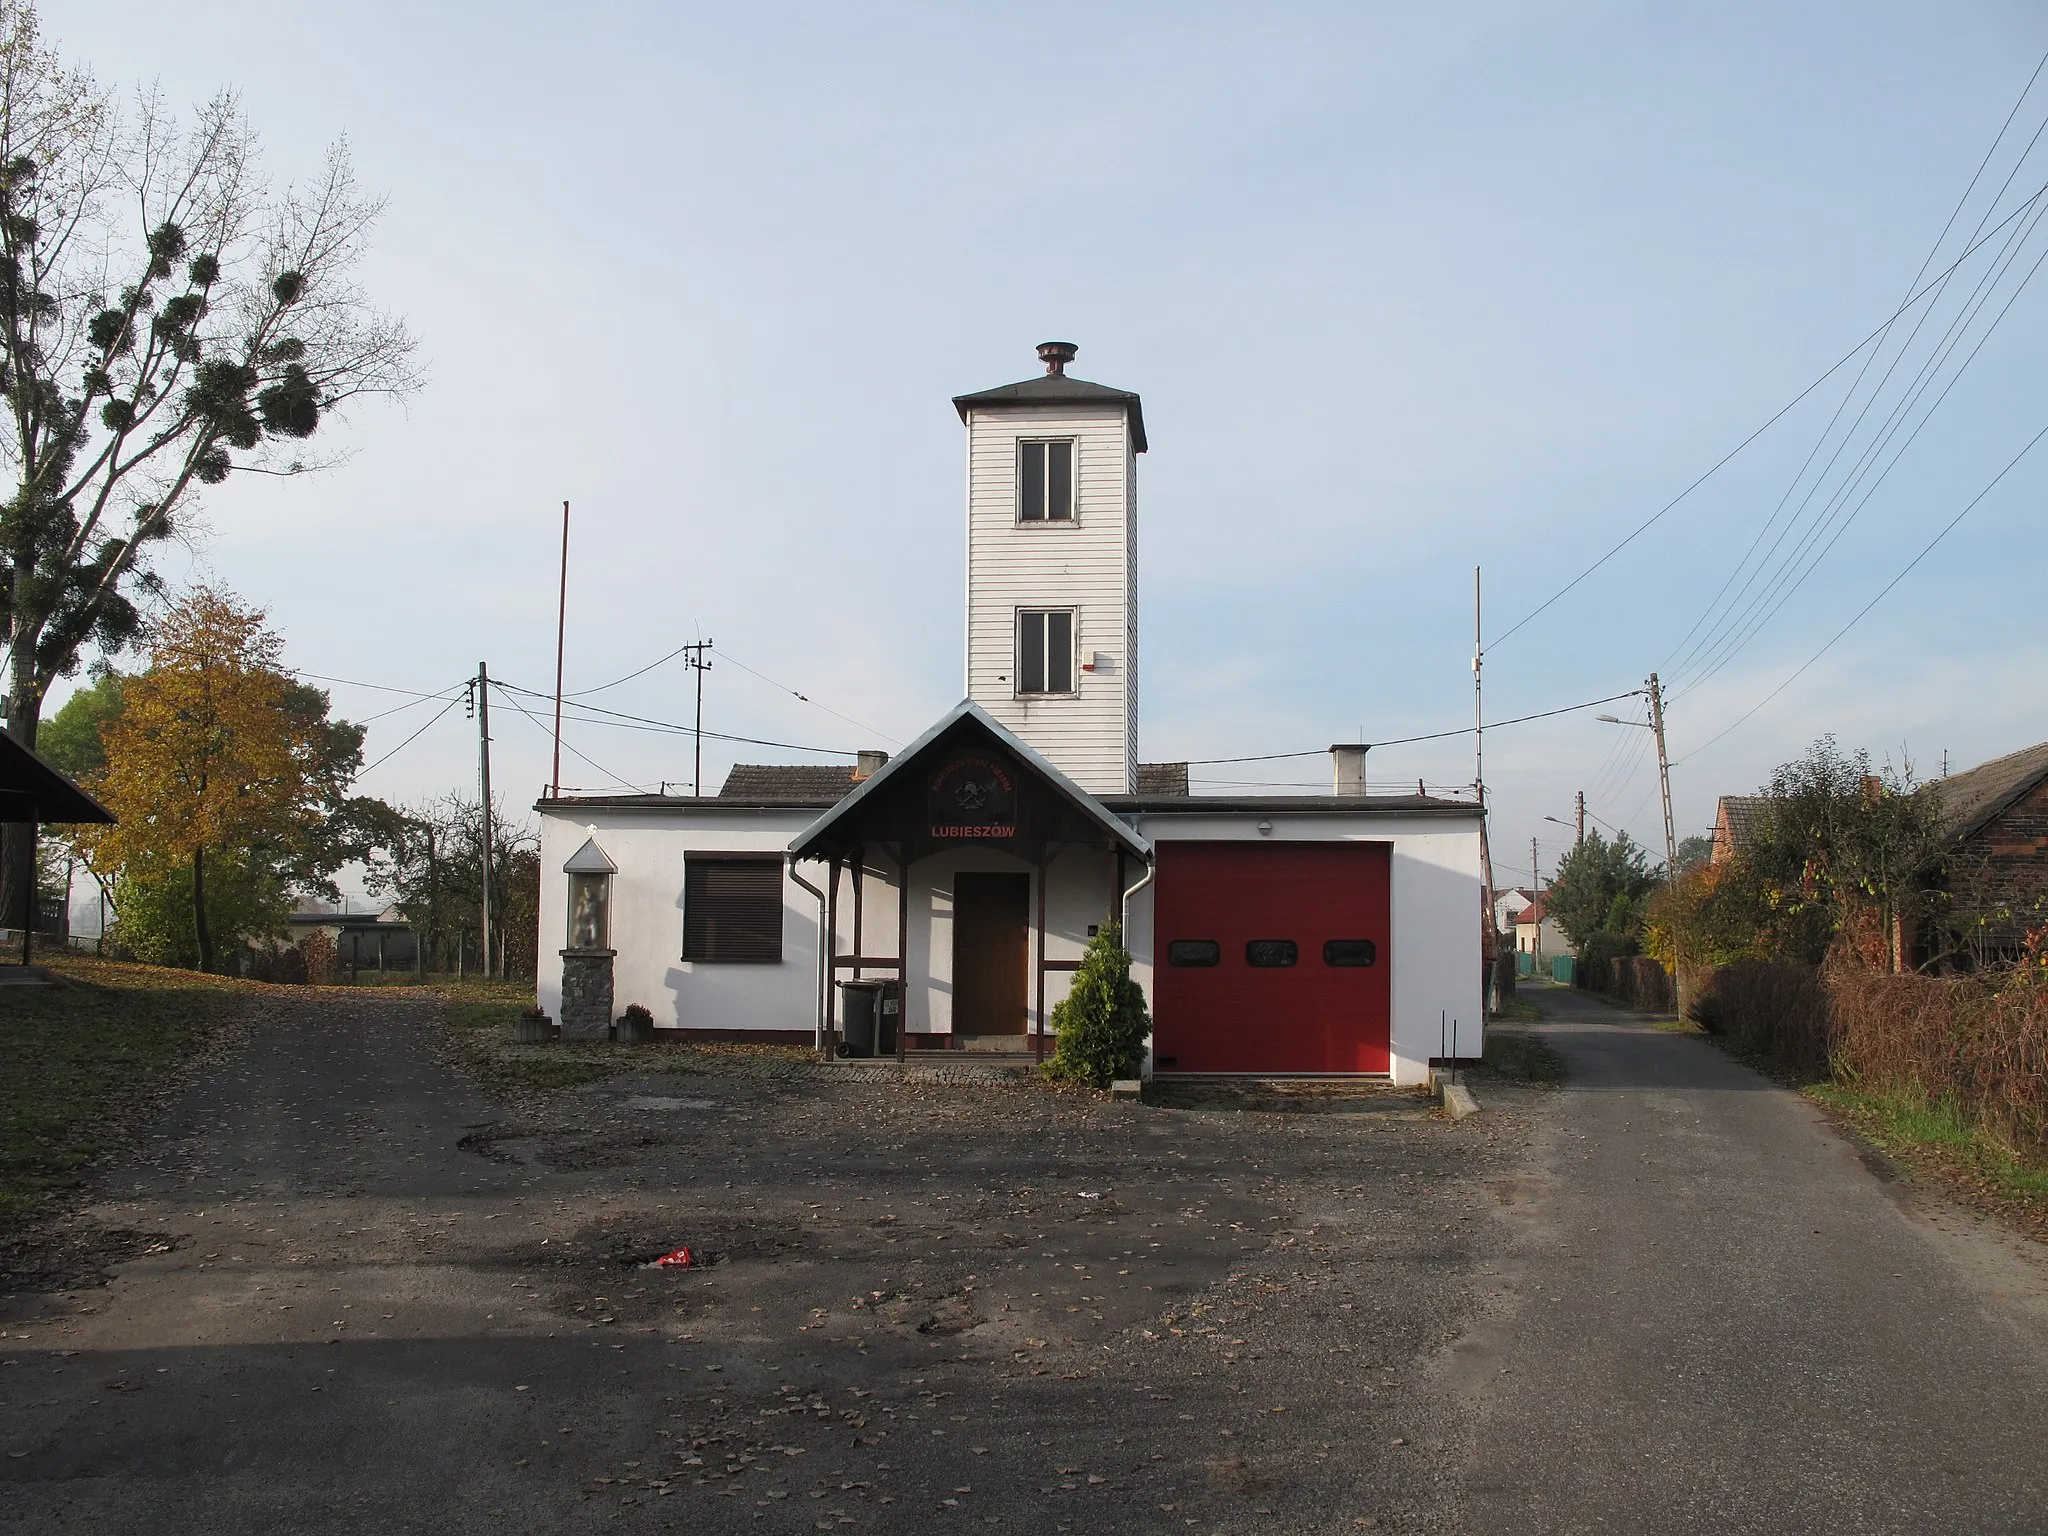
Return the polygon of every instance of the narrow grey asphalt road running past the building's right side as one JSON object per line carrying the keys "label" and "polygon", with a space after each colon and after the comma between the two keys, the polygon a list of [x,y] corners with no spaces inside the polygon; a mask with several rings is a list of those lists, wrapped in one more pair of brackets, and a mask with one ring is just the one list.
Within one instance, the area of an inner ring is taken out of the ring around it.
{"label": "narrow grey asphalt road running past the building's right side", "polygon": [[2048,1528],[2048,1251],[1700,1038],[1528,995],[1567,1087],[1452,1352],[1468,1528]]}

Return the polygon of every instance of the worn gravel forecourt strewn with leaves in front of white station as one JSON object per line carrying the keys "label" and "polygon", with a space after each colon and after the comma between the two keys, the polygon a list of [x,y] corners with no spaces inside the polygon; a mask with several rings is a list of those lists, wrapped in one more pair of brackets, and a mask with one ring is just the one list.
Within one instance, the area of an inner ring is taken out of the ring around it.
{"label": "worn gravel forecourt strewn with leaves in front of white station", "polygon": [[428,1004],[262,1004],[72,1219],[166,1251],[0,1303],[8,1528],[1458,1528],[1536,1090],[664,1065],[504,1104]]}

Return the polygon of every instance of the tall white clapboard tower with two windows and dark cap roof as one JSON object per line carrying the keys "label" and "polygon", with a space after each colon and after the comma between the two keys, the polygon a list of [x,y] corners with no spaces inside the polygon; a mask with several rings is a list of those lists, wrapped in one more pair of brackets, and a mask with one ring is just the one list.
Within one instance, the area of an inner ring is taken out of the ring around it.
{"label": "tall white clapboard tower with two windows and dark cap roof", "polygon": [[1137,791],[1139,500],[1128,389],[1044,375],[956,395],[967,424],[967,696],[1094,795]]}

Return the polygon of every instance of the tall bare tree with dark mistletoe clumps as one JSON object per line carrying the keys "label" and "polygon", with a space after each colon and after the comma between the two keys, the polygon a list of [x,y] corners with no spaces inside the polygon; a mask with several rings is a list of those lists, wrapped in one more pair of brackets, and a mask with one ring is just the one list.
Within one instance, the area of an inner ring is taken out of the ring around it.
{"label": "tall bare tree with dark mistletoe clumps", "polygon": [[[354,279],[383,205],[346,143],[307,186],[256,160],[231,92],[190,125],[154,94],[121,111],[41,45],[33,4],[0,0],[0,639],[23,745],[86,647],[135,637],[150,549],[205,487],[317,469],[330,416],[420,383]],[[0,924],[33,870],[33,827],[8,827]]]}

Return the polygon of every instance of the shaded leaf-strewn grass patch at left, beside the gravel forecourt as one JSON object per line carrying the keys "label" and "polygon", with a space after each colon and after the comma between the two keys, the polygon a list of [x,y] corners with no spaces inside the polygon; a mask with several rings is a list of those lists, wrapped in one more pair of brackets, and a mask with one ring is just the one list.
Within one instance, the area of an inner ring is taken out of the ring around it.
{"label": "shaded leaf-strewn grass patch at left, beside the gravel forecourt", "polygon": [[63,987],[0,1004],[0,1223],[78,1186],[86,1167],[236,1018],[246,983],[86,956]]}

